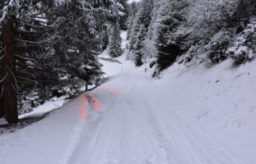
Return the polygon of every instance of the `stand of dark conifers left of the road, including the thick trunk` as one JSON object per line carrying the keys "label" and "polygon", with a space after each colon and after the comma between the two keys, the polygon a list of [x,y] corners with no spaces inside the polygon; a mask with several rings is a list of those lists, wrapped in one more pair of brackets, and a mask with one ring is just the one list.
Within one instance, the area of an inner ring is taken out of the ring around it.
{"label": "stand of dark conifers left of the road, including the thick trunk", "polygon": [[[10,123],[17,121],[17,92],[36,91],[40,98],[49,98],[53,89],[77,80],[97,83],[102,75],[97,55],[103,25],[118,21],[121,7],[111,0],[11,2],[4,4],[0,25],[1,91]],[[69,79],[61,80],[64,75]]]}

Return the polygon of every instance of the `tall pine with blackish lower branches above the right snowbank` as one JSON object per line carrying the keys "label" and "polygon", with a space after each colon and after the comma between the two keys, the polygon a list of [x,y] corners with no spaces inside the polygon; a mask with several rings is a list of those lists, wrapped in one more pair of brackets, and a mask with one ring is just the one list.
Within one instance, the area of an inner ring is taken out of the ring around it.
{"label": "tall pine with blackish lower branches above the right snowbank", "polygon": [[173,35],[179,25],[184,23],[184,11],[188,3],[186,0],[173,0],[165,2],[162,5],[161,23],[157,30],[156,48],[159,71],[164,70],[175,62],[176,58],[181,55],[181,40],[174,39]]}

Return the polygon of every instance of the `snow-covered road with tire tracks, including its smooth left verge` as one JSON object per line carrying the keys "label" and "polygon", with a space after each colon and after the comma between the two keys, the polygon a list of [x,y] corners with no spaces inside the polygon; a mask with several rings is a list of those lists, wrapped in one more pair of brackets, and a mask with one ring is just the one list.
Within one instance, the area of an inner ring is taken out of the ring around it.
{"label": "snow-covered road with tire tracks, including its smooth left verge", "polygon": [[100,109],[88,103],[83,111],[88,121],[82,119],[85,105],[77,98],[44,121],[1,137],[0,163],[239,163],[192,121],[173,111],[168,96],[142,73],[124,71],[91,96]]}

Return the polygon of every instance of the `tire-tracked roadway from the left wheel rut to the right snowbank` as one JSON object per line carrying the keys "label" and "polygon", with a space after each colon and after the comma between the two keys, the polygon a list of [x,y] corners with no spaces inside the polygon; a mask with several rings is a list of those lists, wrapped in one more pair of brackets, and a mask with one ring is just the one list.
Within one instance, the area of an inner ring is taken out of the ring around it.
{"label": "tire-tracked roadway from the left wheel rut to the right snowbank", "polygon": [[[119,95],[100,93],[108,88]],[[125,72],[100,89],[93,93],[104,100],[104,114],[93,121],[70,163],[239,163],[192,121],[172,111],[168,96],[142,74]]]}

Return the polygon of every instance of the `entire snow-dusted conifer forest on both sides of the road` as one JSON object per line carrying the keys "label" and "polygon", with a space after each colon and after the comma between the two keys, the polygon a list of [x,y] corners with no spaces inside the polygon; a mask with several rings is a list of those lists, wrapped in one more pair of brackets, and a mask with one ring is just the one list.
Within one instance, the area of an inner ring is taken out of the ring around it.
{"label": "entire snow-dusted conifer forest on both sides of the road", "polygon": [[127,58],[152,77],[175,62],[210,68],[231,58],[238,67],[256,52],[254,0],[5,0],[0,8],[0,116],[12,123],[49,98],[101,84],[98,56],[123,54],[120,30]]}

